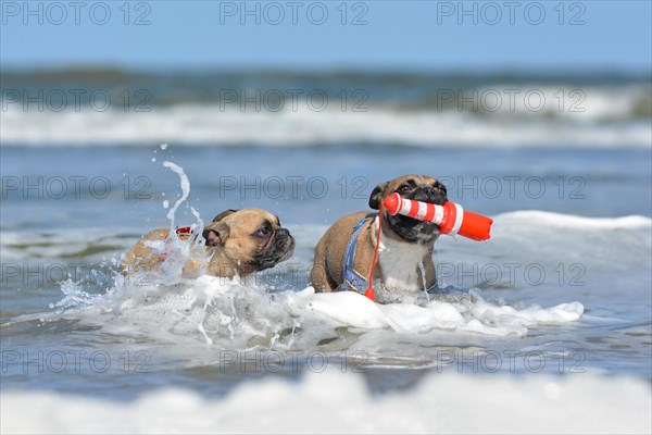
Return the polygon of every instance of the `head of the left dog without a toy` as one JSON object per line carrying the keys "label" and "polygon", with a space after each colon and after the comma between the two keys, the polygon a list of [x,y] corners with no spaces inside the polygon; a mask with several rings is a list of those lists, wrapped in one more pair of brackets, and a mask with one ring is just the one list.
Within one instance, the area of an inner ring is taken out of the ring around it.
{"label": "head of the left dog without a toy", "polygon": [[274,214],[260,209],[227,210],[204,228],[206,246],[240,264],[246,273],[273,268],[294,252],[294,239]]}

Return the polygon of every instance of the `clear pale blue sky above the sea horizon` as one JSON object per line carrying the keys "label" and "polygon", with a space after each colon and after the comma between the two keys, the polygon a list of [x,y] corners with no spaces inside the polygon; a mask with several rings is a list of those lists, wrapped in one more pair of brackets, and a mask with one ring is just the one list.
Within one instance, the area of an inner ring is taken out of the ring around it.
{"label": "clear pale blue sky above the sea horizon", "polygon": [[652,70],[649,0],[125,3],[2,0],[2,67]]}

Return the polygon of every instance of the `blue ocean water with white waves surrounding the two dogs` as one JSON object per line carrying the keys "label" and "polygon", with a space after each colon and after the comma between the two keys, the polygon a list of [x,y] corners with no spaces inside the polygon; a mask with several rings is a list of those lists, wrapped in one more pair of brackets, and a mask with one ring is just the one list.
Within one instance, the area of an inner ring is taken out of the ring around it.
{"label": "blue ocean water with white waves surrounding the two dogs", "polygon": [[[102,412],[113,432],[649,432],[645,77],[68,71],[2,82],[3,432],[99,432]],[[78,88],[111,103],[76,107]],[[531,98],[511,107],[510,95]],[[322,234],[406,173],[440,178],[449,199],[491,216],[491,239],[441,236],[434,294],[315,295]],[[117,274],[145,232],[244,207],[280,217],[291,260],[247,279]],[[325,420],[351,400],[341,422]],[[497,422],[501,400],[513,418]],[[362,419],[372,413],[383,418]]]}

